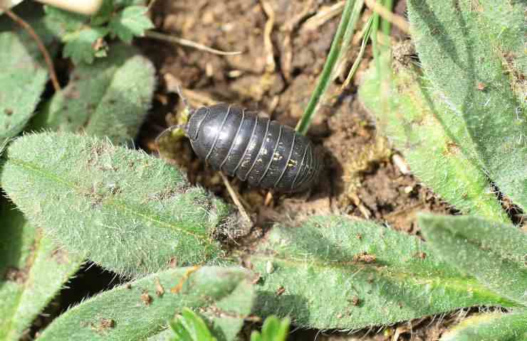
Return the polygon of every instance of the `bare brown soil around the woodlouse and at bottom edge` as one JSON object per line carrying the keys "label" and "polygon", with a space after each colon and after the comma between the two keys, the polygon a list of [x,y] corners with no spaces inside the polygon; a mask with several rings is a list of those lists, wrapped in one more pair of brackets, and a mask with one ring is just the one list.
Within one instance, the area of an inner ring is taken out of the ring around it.
{"label": "bare brown soil around the woodlouse and at bottom edge", "polygon": [[[322,21],[315,19],[332,5],[335,1],[194,0],[192,6],[185,1],[157,1],[152,18],[158,31],[242,54],[221,56],[159,40],[139,40],[137,45],[155,62],[160,79],[154,109],[140,135],[141,146],[157,153],[155,137],[178,121],[183,106],[176,93],[177,85],[194,107],[229,102],[295,126],[325,63],[340,12]],[[395,9],[404,13],[405,1],[398,1]],[[361,20],[359,26],[364,22]],[[272,27],[270,34],[266,25]],[[402,36],[397,30],[393,35]],[[354,41],[348,65],[336,83],[345,78],[358,53],[360,39]],[[309,136],[326,156],[323,178],[316,188],[299,195],[274,194],[269,205],[265,205],[266,191],[231,179],[257,222],[252,240],[265,233],[266,223],[313,214],[362,217],[416,234],[416,212],[449,212],[446,204],[408,173],[404,160],[377,134],[375,121],[358,102],[357,85],[369,60],[367,51],[355,84],[347,90],[341,92],[340,84],[330,87],[329,99],[310,128]],[[196,158],[186,139],[162,139],[161,153],[186,170],[192,183],[231,201],[219,175]],[[398,330],[400,340],[437,340],[445,324],[430,321],[396,325],[389,331],[370,332],[367,337],[391,340]],[[293,335],[298,335],[295,340],[313,340],[317,332]],[[364,332],[359,334],[363,336]],[[339,337],[319,340],[351,340]]]}

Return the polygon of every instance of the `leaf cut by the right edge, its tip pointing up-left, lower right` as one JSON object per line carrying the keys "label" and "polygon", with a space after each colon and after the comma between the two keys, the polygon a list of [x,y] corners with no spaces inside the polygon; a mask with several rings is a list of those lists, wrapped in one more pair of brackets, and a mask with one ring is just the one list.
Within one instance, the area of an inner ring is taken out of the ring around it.
{"label": "leaf cut by the right edge, its tip pointing up-left, lower right", "polygon": [[492,291],[527,305],[527,234],[479,217],[420,215],[432,249]]}

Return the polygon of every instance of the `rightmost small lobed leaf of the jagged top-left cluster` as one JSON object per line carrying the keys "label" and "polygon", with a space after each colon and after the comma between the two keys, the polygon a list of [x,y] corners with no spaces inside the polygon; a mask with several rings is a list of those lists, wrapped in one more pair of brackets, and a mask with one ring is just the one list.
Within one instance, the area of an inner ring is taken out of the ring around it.
{"label": "rightmost small lobed leaf of the jagged top-left cluster", "polygon": [[112,36],[118,36],[125,43],[131,43],[134,36],[145,36],[146,30],[154,28],[147,11],[145,6],[128,6],[117,13],[108,24]]}

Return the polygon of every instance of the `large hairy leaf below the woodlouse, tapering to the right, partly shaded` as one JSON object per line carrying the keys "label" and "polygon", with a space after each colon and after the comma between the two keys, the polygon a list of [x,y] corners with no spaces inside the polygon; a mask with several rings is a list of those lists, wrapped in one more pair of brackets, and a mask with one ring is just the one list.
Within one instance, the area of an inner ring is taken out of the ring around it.
{"label": "large hairy leaf below the woodlouse, tapering to the right, partly shaded", "polygon": [[259,315],[310,328],[364,328],[472,305],[517,305],[464,276],[416,237],[361,220],[275,226],[256,254]]}

